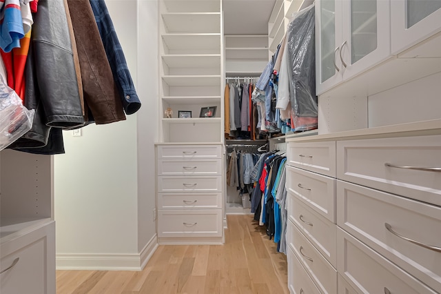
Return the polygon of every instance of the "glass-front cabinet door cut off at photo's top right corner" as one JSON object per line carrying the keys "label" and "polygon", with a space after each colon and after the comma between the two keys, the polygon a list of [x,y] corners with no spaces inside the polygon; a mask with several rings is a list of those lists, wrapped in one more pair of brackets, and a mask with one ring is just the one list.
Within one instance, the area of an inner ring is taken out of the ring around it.
{"label": "glass-front cabinet door cut off at photo's top right corner", "polygon": [[441,1],[391,0],[391,49],[396,55],[441,31]]}

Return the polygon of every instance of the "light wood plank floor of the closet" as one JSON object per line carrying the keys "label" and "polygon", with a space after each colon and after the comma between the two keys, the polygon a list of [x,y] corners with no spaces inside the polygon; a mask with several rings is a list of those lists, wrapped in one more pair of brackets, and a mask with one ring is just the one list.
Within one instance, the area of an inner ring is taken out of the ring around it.
{"label": "light wood plank floor of the closet", "polygon": [[227,215],[225,245],[159,246],[143,271],[57,271],[57,294],[283,294],[287,259],[252,215]]}

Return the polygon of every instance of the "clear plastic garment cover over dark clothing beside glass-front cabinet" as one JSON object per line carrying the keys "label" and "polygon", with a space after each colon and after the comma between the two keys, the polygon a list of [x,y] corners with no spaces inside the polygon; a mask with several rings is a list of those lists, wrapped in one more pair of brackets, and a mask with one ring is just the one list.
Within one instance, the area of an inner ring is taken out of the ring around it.
{"label": "clear plastic garment cover over dark clothing beside glass-front cabinet", "polygon": [[289,101],[295,130],[317,128],[314,4],[300,10],[287,27]]}

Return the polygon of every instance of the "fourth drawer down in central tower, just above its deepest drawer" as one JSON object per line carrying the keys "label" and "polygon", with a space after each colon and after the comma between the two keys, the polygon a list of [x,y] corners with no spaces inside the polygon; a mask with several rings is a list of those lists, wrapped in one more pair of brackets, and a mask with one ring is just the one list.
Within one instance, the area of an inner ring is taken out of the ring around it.
{"label": "fourth drawer down in central tower, just above its deepest drawer", "polygon": [[222,193],[158,194],[158,209],[222,208]]}

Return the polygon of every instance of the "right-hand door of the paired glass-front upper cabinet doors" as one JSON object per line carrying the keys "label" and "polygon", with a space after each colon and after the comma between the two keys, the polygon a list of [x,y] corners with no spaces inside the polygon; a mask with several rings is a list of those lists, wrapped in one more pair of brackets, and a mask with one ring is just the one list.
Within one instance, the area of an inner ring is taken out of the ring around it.
{"label": "right-hand door of the paired glass-front upper cabinet doors", "polygon": [[342,1],[342,16],[340,56],[346,80],[391,56],[389,1]]}

